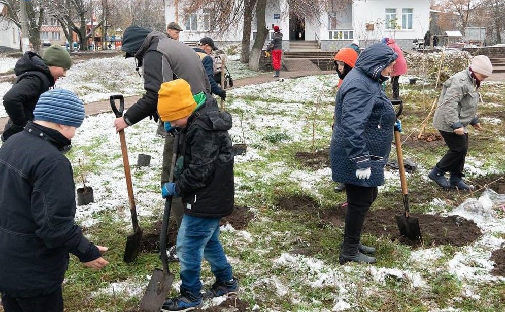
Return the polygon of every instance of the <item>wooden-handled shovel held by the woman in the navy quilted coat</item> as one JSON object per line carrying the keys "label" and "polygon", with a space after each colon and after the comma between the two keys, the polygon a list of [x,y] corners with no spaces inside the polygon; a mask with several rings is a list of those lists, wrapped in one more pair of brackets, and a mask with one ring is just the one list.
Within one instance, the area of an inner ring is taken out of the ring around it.
{"label": "wooden-handled shovel held by the woman in the navy quilted coat", "polygon": [[[396,113],[398,118],[403,110],[403,102],[401,100],[392,100],[393,105],[399,105],[400,108]],[[405,167],[403,167],[403,152],[401,150],[401,138],[398,128],[394,127],[394,143],[396,145],[396,155],[398,156],[398,167],[400,170],[401,193],[403,194],[403,208],[405,212],[403,215],[396,215],[396,224],[402,236],[409,237],[413,240],[421,240],[421,228],[419,227],[419,220],[412,217],[409,211],[409,193],[407,191],[407,180],[405,179]]]}

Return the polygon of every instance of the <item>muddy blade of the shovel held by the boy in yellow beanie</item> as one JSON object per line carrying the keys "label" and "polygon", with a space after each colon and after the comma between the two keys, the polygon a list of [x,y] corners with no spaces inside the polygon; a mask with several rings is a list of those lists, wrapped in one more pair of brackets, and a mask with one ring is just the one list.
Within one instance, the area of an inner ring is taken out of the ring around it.
{"label": "muddy blade of the shovel held by the boy in yellow beanie", "polygon": [[159,312],[172,287],[174,276],[173,273],[165,273],[163,270],[154,269],[144,297],[140,302],[139,312]]}

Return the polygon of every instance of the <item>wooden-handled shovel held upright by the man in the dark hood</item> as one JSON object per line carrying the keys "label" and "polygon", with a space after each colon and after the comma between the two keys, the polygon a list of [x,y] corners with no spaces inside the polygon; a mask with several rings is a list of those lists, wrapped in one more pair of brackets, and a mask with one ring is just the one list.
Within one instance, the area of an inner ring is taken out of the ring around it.
{"label": "wooden-handled shovel held upright by the man in the dark hood", "polygon": [[[119,99],[119,110],[116,107],[115,100]],[[111,108],[117,118],[123,116],[124,98],[122,95],[111,95]],[[133,234],[126,237],[126,248],[124,249],[123,261],[126,263],[133,262],[137,258],[142,242],[142,229],[139,226],[137,219],[137,209],[135,206],[135,198],[133,197],[133,186],[131,185],[130,163],[128,161],[128,151],[126,150],[126,138],[124,130],[119,131],[119,141],[121,141],[121,153],[123,154],[124,175],[126,177],[126,189],[128,190],[128,199],[130,201],[131,223],[133,224]]]}

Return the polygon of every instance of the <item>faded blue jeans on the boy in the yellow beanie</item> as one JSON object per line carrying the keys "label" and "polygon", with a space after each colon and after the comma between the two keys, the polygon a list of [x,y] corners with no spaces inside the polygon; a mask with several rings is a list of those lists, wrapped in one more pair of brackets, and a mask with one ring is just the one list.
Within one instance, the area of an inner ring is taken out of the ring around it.
{"label": "faded blue jeans on the boy in the yellow beanie", "polygon": [[221,218],[184,215],[177,233],[177,256],[181,264],[181,290],[200,293],[201,259],[205,258],[218,281],[233,279],[231,265],[219,241]]}

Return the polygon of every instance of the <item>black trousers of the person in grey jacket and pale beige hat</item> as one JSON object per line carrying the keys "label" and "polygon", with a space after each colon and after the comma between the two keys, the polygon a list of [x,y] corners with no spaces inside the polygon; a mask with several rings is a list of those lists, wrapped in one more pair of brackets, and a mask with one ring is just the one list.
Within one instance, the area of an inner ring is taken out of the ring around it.
{"label": "black trousers of the person in grey jacket and pale beige hat", "polygon": [[463,177],[466,152],[468,151],[468,133],[457,135],[454,132],[440,131],[449,151],[436,164],[442,171],[450,172],[452,176]]}

